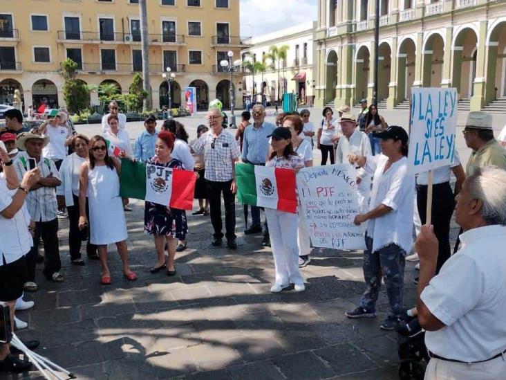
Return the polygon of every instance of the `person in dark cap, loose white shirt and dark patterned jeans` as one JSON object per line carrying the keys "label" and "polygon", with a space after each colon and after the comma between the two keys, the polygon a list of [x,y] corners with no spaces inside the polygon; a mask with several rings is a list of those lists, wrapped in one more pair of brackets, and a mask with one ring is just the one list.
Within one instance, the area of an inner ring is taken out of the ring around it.
{"label": "person in dark cap, loose white shirt and dark patterned jeans", "polygon": [[393,330],[404,313],[402,294],[406,253],[413,246],[413,199],[415,176],[408,170],[408,134],[392,126],[377,134],[382,153],[376,156],[349,156],[352,164],[364,168],[373,177],[369,211],[355,217],[359,225],[367,221],[364,279],[366,291],[360,306],[346,311],[348,318],[373,318],[382,277],[391,314],[380,325]]}

